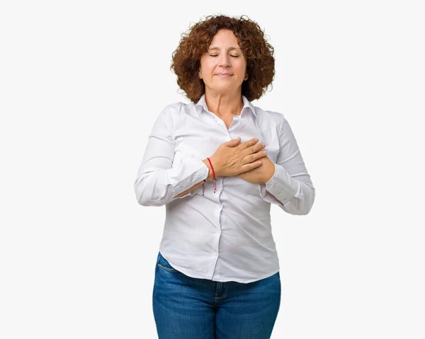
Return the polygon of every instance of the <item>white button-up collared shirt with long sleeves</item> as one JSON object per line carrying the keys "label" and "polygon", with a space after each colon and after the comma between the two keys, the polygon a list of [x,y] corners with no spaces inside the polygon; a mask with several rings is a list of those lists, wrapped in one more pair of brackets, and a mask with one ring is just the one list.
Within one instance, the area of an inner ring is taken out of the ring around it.
{"label": "white button-up collared shirt with long sleeves", "polygon": [[[157,117],[134,188],[143,206],[166,206],[159,246],[172,267],[190,277],[217,282],[254,282],[279,270],[271,233],[271,204],[290,214],[307,214],[315,191],[294,134],[282,113],[262,110],[242,96],[244,108],[229,130],[198,103],[172,103]],[[203,159],[217,147],[241,137],[266,144],[275,163],[266,184],[237,176],[217,177],[176,197],[208,177]],[[203,190],[205,186],[205,190]]]}

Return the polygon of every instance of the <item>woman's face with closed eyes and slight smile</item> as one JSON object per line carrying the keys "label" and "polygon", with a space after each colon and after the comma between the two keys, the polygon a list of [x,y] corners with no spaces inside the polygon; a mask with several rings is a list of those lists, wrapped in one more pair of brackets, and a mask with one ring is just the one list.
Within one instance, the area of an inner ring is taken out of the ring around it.
{"label": "woman's face with closed eyes and slight smile", "polygon": [[214,35],[208,52],[200,57],[199,72],[205,91],[227,94],[242,91],[246,59],[231,30],[221,29]]}

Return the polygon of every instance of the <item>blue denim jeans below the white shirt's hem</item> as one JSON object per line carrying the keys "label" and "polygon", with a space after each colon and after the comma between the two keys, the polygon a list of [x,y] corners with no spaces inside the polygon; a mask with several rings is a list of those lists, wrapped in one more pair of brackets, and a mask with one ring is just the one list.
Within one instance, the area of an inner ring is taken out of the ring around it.
{"label": "blue denim jeans below the white shirt's hem", "polygon": [[198,279],[158,253],[152,306],[159,339],[269,339],[280,275],[247,284]]}

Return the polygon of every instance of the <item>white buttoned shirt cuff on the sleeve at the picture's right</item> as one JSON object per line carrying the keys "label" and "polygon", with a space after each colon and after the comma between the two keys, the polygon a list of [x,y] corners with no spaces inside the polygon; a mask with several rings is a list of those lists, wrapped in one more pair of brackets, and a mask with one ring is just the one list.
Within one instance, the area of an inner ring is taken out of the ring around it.
{"label": "white buttoned shirt cuff on the sleeve at the picture's right", "polygon": [[270,180],[265,184],[259,185],[260,196],[267,202],[285,205],[286,202],[297,195],[300,190],[300,184],[290,176],[283,166],[277,163],[274,166],[275,172]]}

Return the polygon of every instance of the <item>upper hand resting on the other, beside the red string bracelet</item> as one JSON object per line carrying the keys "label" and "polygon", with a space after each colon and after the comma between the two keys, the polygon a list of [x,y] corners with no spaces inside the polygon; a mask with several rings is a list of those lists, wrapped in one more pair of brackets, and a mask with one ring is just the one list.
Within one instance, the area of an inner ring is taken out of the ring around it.
{"label": "upper hand resting on the other, beside the red string bracelet", "polygon": [[[217,151],[210,156],[215,176],[237,176],[261,166],[261,161],[257,160],[266,156],[266,153],[261,151],[266,145],[257,144],[259,140],[256,138],[249,139],[242,144],[239,142],[240,137],[225,142],[218,146]],[[204,163],[208,168],[210,167],[208,159],[205,159]]]}

